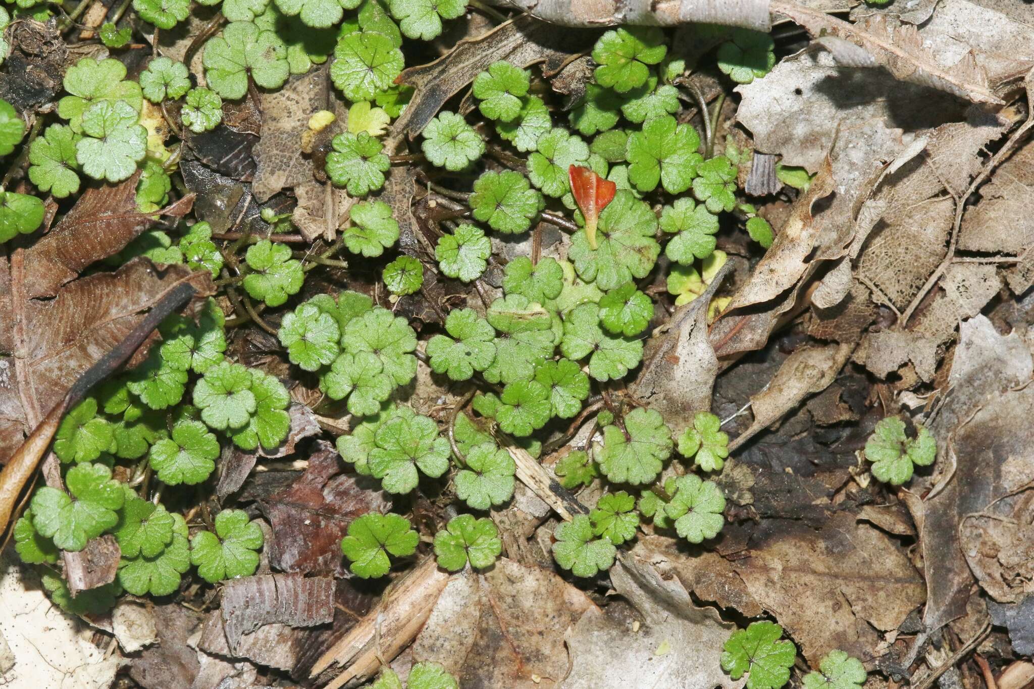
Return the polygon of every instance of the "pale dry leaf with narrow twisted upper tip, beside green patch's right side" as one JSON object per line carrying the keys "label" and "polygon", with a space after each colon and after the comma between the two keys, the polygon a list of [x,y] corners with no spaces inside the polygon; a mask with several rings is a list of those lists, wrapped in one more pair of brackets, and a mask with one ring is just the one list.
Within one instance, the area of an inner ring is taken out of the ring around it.
{"label": "pale dry leaf with narrow twisted upper tip, beside green patch's right side", "polygon": [[679,307],[644,347],[632,390],[676,430],[691,426],[696,412],[710,410],[718,357],[707,339],[707,306],[732,268],[733,261],[726,263],[707,289]]}

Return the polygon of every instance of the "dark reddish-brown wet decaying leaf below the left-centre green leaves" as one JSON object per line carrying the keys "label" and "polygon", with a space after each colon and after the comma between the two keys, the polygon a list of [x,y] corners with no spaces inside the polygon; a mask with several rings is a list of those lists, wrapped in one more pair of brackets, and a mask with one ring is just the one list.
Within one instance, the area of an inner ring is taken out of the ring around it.
{"label": "dark reddish-brown wet decaying leaf below the left-centre green leaves", "polygon": [[369,511],[388,511],[391,501],[375,481],[340,471],[334,447],[320,441],[305,473],[290,488],[258,501],[273,527],[269,555],[277,569],[348,575],[340,549],[348,524]]}

